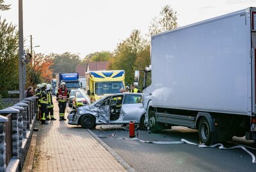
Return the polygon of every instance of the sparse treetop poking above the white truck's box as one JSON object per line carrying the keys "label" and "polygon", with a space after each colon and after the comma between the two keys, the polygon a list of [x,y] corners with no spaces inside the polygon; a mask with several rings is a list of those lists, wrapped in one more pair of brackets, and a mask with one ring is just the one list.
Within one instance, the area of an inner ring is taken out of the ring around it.
{"label": "sparse treetop poking above the white truck's box", "polygon": [[177,11],[174,11],[170,5],[166,5],[160,11],[159,17],[153,18],[150,22],[149,36],[170,31],[177,28],[177,26]]}

